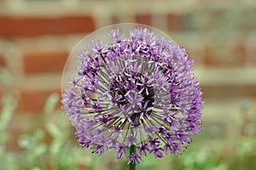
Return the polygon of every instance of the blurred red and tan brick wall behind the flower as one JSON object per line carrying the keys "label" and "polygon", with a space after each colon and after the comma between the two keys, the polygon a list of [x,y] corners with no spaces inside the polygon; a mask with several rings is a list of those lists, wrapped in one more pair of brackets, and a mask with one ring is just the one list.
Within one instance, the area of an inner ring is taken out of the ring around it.
{"label": "blurred red and tan brick wall behind the flower", "polygon": [[188,49],[204,93],[204,119],[237,112],[243,99],[255,102],[254,0],[0,0],[0,67],[11,75],[0,95],[15,94],[15,114],[36,119],[47,96],[61,93],[74,45],[120,22],[154,26]]}

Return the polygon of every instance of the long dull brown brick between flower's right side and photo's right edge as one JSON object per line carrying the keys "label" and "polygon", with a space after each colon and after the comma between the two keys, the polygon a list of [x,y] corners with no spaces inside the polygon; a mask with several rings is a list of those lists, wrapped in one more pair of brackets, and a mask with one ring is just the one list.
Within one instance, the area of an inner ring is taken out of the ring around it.
{"label": "long dull brown brick between flower's right side and photo's right edge", "polygon": [[256,85],[204,85],[203,98],[250,98],[256,97]]}

